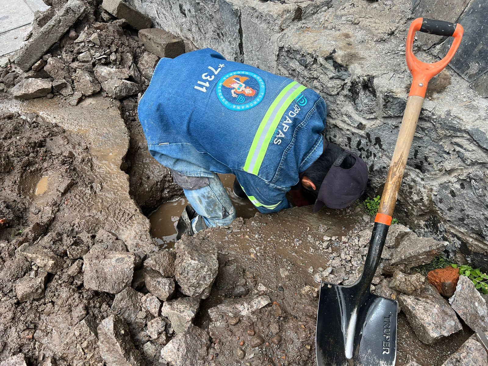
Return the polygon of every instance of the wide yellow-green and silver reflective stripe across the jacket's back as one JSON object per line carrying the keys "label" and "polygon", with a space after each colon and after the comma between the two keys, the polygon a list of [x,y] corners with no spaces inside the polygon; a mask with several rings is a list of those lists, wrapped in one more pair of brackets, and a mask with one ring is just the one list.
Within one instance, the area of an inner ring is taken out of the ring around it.
{"label": "wide yellow-green and silver reflective stripe across the jacket's back", "polygon": [[293,100],[305,89],[305,86],[300,85],[296,81],[292,81],[285,86],[278,97],[271,103],[271,106],[266,111],[266,114],[258,127],[258,131],[254,136],[254,140],[244,164],[244,171],[258,175],[271,137],[273,136],[276,127],[278,127],[283,114],[290,106],[291,102],[293,102]]}

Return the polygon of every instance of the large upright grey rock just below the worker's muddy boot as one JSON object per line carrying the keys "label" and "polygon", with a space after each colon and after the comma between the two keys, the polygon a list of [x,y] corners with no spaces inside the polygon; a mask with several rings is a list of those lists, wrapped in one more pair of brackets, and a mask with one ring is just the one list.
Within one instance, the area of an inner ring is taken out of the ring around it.
{"label": "large upright grey rock just below the worker's muddy boot", "polygon": [[176,243],[175,278],[183,294],[206,299],[217,277],[217,249],[194,237]]}

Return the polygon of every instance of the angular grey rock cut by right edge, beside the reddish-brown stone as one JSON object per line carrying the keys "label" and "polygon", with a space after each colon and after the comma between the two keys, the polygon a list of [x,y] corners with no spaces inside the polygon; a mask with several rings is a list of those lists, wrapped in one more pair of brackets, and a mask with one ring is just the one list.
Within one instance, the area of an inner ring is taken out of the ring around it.
{"label": "angular grey rock cut by right edge, beside the reddish-brown stone", "polygon": [[472,330],[481,328],[488,331],[487,303],[468,277],[459,276],[449,304]]}

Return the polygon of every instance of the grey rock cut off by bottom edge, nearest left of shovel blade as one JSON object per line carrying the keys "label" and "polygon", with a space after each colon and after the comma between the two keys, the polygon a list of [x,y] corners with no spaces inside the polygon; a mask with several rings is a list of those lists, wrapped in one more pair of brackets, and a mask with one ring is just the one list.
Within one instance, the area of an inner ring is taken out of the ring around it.
{"label": "grey rock cut off by bottom edge, nearest left of shovel blade", "polygon": [[206,330],[190,325],[161,350],[161,357],[171,366],[204,366],[210,339]]}

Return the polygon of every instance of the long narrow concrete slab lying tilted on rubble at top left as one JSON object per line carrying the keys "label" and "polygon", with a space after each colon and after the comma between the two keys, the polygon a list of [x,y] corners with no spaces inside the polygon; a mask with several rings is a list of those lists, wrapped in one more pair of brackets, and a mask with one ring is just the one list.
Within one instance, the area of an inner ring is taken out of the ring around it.
{"label": "long narrow concrete slab lying tilted on rubble at top left", "polygon": [[71,25],[75,23],[86,6],[80,0],[69,0],[56,15],[49,20],[20,50],[15,60],[17,66],[27,71],[49,48],[60,40]]}

